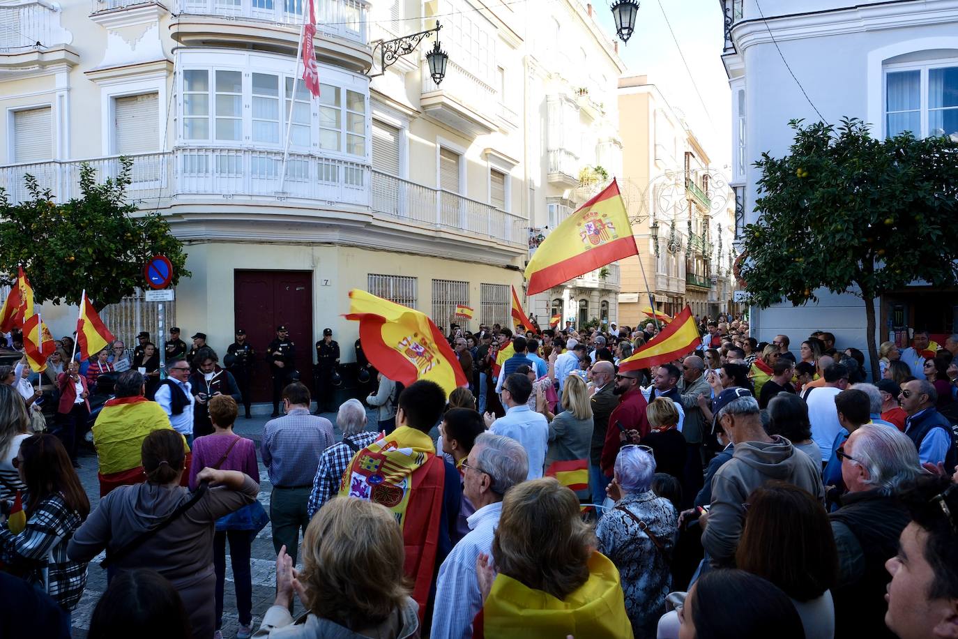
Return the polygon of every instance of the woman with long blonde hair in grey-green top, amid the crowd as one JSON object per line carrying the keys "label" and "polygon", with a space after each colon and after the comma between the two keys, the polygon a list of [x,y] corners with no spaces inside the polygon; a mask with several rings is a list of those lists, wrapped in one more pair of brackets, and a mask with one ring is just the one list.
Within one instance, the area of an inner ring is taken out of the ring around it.
{"label": "woman with long blonde hair in grey-green top, amid the crowd", "polygon": [[[584,463],[582,468],[588,468],[593,426],[592,403],[588,387],[582,377],[570,375],[565,378],[565,386],[562,389],[562,408],[565,410],[555,417],[545,412],[546,419],[551,418],[545,468],[549,468],[554,462],[572,460],[581,460]],[[588,487],[576,491],[576,494],[581,500],[587,501]]]}

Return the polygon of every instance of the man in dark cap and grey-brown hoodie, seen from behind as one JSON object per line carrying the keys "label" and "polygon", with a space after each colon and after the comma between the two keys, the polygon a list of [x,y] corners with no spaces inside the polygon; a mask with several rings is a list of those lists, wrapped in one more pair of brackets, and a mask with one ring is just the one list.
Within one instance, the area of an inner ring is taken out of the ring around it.
{"label": "man in dark cap and grey-brown hoodie, seen from behind", "polygon": [[725,437],[735,445],[732,459],[712,478],[712,506],[699,517],[702,547],[712,565],[730,566],[735,560],[745,502],[755,489],[784,481],[824,499],[821,464],[797,450],[781,435],[768,435],[762,426],[759,402],[744,388],[726,388],[713,404],[713,413]]}

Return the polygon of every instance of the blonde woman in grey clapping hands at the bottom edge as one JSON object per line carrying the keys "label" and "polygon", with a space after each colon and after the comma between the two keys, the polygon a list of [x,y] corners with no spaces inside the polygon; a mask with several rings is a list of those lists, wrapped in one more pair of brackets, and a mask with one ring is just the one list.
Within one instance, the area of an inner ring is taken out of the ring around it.
{"label": "blonde woman in grey clapping hands at the bottom edge", "polygon": [[[254,636],[419,636],[419,607],[409,597],[402,572],[402,532],[384,506],[350,497],[331,499],[303,536],[302,573],[285,551],[284,546],[276,558],[276,602]],[[289,613],[294,591],[307,609],[295,621]]]}

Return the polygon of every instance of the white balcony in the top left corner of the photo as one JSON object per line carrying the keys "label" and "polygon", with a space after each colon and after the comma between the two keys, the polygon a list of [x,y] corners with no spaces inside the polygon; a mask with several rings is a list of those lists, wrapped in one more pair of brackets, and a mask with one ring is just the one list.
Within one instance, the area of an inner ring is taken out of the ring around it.
{"label": "white balcony in the top left corner of the photo", "polygon": [[59,5],[48,0],[15,0],[0,6],[0,78],[35,76],[72,67],[80,56],[69,45],[73,34],[60,24]]}

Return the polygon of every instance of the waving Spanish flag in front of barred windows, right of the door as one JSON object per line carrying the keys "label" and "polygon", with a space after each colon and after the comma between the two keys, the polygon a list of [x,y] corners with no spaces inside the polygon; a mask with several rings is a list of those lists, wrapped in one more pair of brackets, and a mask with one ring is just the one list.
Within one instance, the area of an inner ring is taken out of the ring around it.
{"label": "waving Spanish flag in front of barred windows, right of the door", "polygon": [[446,395],[468,384],[443,333],[424,313],[354,289],[346,319],[359,322],[363,350],[384,376],[406,386],[429,379]]}

